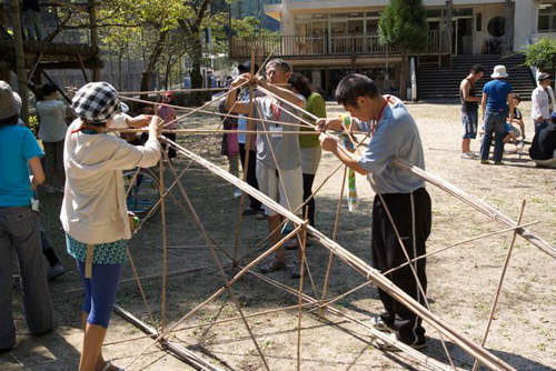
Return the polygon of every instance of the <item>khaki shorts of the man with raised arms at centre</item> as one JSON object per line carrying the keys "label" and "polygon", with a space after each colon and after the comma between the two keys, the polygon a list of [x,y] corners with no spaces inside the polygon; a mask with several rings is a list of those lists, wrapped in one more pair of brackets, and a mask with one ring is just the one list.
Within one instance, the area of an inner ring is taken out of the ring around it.
{"label": "khaki shorts of the man with raised arms at centre", "polygon": [[[260,162],[257,162],[257,182],[259,190],[279,202],[280,205],[294,211],[304,202],[304,177],[301,174],[301,167],[294,170],[280,170],[280,178],[277,176],[276,169],[267,168]],[[284,184],[284,187],[282,187]],[[269,217],[278,214],[268,205],[265,207],[265,213]],[[297,212],[301,214],[302,211]]]}

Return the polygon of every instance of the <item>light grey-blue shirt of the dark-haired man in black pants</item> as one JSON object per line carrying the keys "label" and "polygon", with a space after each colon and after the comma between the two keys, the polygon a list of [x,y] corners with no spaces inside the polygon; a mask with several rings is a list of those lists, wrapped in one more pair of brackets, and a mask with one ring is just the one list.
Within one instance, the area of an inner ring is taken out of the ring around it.
{"label": "light grey-blue shirt of the dark-haired man in black pants", "polygon": [[[376,193],[409,193],[425,181],[409,171],[396,168],[391,160],[398,158],[425,170],[425,156],[419,130],[406,107],[394,97],[394,106],[387,106],[375,128],[375,136],[359,157],[358,163],[369,172]],[[363,131],[371,132],[369,122],[357,122]]]}

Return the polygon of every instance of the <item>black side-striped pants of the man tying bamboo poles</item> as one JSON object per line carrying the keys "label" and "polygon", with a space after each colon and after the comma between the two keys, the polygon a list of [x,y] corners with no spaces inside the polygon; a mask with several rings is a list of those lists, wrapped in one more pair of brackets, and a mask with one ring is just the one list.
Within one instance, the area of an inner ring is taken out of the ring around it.
{"label": "black side-striped pants of the man tying bamboo poles", "polygon": [[[386,193],[383,197],[409,258],[413,259],[425,254],[425,242],[430,234],[431,224],[428,192],[425,188],[419,188],[411,193]],[[404,250],[398,243],[396,232],[378,195],[375,197],[373,205],[371,251],[373,265],[381,272],[407,262]],[[413,265],[426,292],[426,259],[420,259],[414,262]],[[409,265],[388,274],[387,278],[416,301],[421,304],[425,303]],[[385,307],[385,313],[381,314],[383,320],[398,330],[399,340],[408,344],[424,342],[425,329],[421,325],[421,319],[385,291],[380,289],[378,291]]]}

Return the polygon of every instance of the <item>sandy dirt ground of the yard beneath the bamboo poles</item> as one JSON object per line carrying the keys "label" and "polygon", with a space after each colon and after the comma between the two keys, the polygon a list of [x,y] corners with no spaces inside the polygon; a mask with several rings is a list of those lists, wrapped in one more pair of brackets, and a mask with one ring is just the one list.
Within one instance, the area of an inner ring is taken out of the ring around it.
{"label": "sandy dirt ground of the yard beneath the bamboo poles", "polygon": [[[533,122],[529,118],[530,103],[523,106],[526,118],[527,139],[533,138]],[[503,167],[481,166],[476,160],[459,158],[460,119],[456,104],[409,104],[416,119],[425,148],[427,171],[435,173],[463,190],[476,195],[513,219],[517,219],[522,200],[527,200],[524,222],[538,221],[530,231],[556,244],[556,171],[534,167],[528,156],[505,154]],[[339,112],[335,104],[328,112]],[[183,126],[216,128],[218,119],[201,117]],[[199,148],[207,137],[183,137],[186,147]],[[478,141],[471,149],[478,151]],[[219,138],[203,149],[203,156],[227,167],[219,156]],[[325,154],[317,174],[316,184],[337,166],[337,160]],[[176,161],[179,170],[188,161]],[[317,228],[332,235],[338,203],[341,171],[337,172],[317,195]],[[166,172],[167,186],[173,177]],[[354,254],[370,262],[370,205],[373,192],[363,177],[357,181],[360,199],[359,209],[348,212],[341,204],[341,219],[337,241]],[[193,164],[183,177],[183,184],[207,232],[224,250],[218,257],[222,263],[230,261],[236,242],[238,200],[234,188],[220,178]],[[433,233],[428,251],[463,241],[489,231],[504,229],[502,224],[471,210],[436,187],[427,186],[433,198]],[[181,193],[172,192],[182,202]],[[82,293],[75,263],[64,252],[63,233],[58,213],[61,194],[42,197],[44,212],[42,222],[59,253],[68,273],[50,283],[54,307],[56,331],[42,335],[27,334],[21,310],[20,289],[14,292],[14,319],[18,342],[11,353],[0,354],[1,370],[77,370],[82,342],[80,308]],[[169,200],[166,208],[168,227],[168,272],[209,267],[191,273],[168,278],[166,298],[166,327],[171,325],[191,309],[209,298],[221,287],[210,251],[191,218]],[[265,221],[247,217],[241,228],[237,257],[246,255],[241,262],[254,259],[248,254],[267,233]],[[428,299],[431,311],[469,339],[480,342],[500,271],[512,242],[512,233],[498,234],[447,250],[428,259]],[[139,275],[162,273],[161,217],[146,224],[129,243]],[[294,251],[288,251],[290,261]],[[306,280],[304,291],[320,298],[329,253],[314,242],[307,252],[316,294],[312,284]],[[518,370],[553,370],[556,367],[556,262],[524,239],[516,240],[515,249],[500,293],[498,310],[493,322],[486,347],[500,359]],[[231,271],[227,265],[226,274]],[[126,264],[122,279],[132,278],[132,270]],[[289,271],[269,274],[288,287],[298,289],[299,281],[289,278]],[[365,279],[349,267],[335,260],[329,281],[328,297],[334,298],[363,283]],[[121,283],[118,304],[147,323],[161,324],[161,280],[142,280],[153,320],[150,319],[135,282]],[[241,297],[245,314],[286,308],[297,304],[297,297],[281,291],[252,274],[247,274],[235,285]],[[76,290],[77,289],[77,290]],[[341,300],[335,307],[364,322],[380,312],[375,287],[366,287]],[[238,312],[229,294],[217,298],[203,307],[169,339],[188,347],[198,355],[224,370],[264,369],[254,343],[240,320],[217,323],[236,318]],[[257,342],[266,357],[270,370],[295,370],[297,367],[298,311],[290,309],[247,320]],[[368,332],[351,324],[345,318],[330,313],[319,319],[318,313],[306,310],[301,322],[301,369],[302,370],[403,370],[424,369],[404,354],[385,353],[370,344]],[[447,362],[439,334],[428,327],[429,345],[424,353],[440,362]],[[150,343],[142,332],[112,314],[103,352],[107,359],[122,367]],[[446,342],[455,364],[470,369],[473,359],[453,342]],[[190,367],[170,353],[156,347],[150,348],[130,367],[130,370],[189,370]]]}

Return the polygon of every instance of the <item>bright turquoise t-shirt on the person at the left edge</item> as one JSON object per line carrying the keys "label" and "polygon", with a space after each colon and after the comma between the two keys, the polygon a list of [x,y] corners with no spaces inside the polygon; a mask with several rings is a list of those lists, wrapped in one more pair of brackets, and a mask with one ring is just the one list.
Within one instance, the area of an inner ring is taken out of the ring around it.
{"label": "bright turquoise t-shirt on the person at the left edge", "polygon": [[0,126],[0,207],[31,204],[27,162],[33,157],[42,157],[42,150],[29,129]]}

